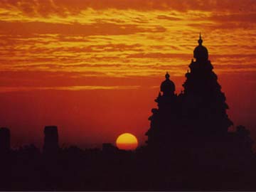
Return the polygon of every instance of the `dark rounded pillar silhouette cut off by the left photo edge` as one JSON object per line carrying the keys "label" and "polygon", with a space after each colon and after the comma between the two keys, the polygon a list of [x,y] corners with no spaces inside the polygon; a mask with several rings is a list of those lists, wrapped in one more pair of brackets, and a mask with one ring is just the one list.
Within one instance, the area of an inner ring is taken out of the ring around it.
{"label": "dark rounded pillar silhouette cut off by the left photo edge", "polygon": [[6,127],[0,128],[0,153],[4,154],[10,150],[11,134],[10,130]]}

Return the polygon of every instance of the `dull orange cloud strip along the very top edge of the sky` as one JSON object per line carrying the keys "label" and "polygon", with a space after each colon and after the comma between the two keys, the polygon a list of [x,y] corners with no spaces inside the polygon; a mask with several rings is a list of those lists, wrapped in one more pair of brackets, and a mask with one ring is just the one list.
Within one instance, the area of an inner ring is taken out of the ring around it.
{"label": "dull orange cloud strip along the very top edge of the sky", "polygon": [[48,16],[58,14],[80,14],[85,9],[134,9],[139,11],[172,10],[172,11],[255,11],[255,1],[251,0],[6,0],[1,7],[16,9],[23,14]]}

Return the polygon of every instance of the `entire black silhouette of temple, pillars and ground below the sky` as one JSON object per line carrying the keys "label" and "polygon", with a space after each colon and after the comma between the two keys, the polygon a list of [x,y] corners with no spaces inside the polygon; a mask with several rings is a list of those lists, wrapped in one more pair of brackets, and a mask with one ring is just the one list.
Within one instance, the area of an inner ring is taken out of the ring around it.
{"label": "entire black silhouette of temple, pillars and ground below the sky", "polygon": [[50,126],[42,153],[33,145],[11,150],[10,131],[1,128],[0,190],[255,191],[250,132],[228,131],[228,105],[202,43],[200,36],[181,94],[166,73],[145,146],[61,149],[58,129]]}

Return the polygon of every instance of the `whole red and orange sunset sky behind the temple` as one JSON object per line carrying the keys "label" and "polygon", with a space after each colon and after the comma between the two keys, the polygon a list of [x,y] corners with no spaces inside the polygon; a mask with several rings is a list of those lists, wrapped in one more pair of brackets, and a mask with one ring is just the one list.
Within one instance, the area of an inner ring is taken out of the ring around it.
{"label": "whole red and orange sunset sky behind the temple", "polygon": [[[202,33],[235,126],[256,139],[255,0],[1,0],[0,126],[13,147],[144,144],[166,71],[181,92]],[[230,130],[234,129],[231,127]]]}

